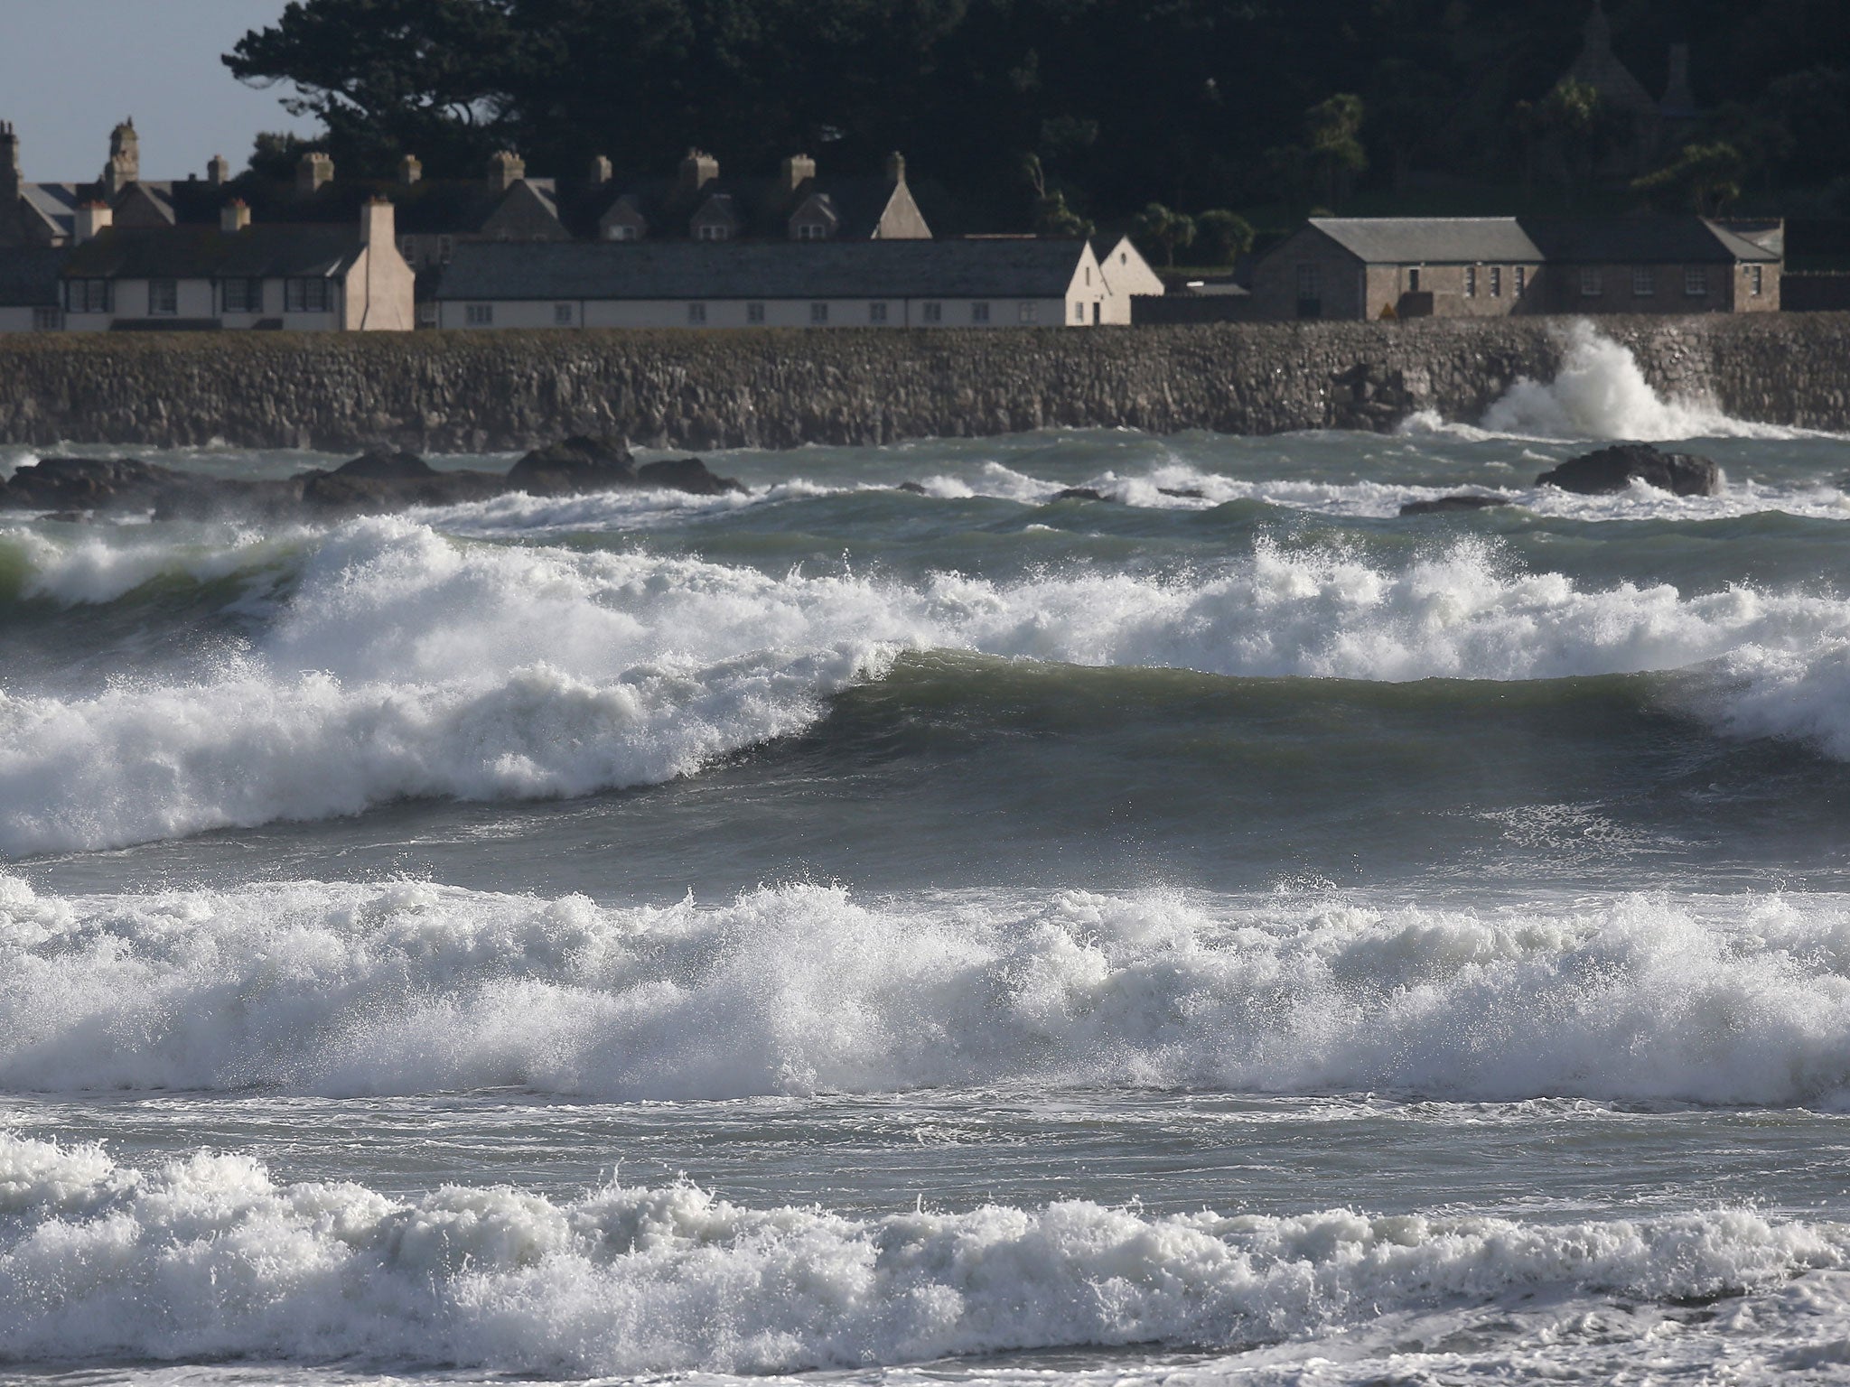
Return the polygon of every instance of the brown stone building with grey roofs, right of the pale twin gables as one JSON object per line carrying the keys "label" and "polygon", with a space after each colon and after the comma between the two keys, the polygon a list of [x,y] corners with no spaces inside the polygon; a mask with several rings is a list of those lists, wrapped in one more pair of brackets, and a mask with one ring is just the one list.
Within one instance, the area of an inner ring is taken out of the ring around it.
{"label": "brown stone building with grey roofs, right of the pale twin gables", "polygon": [[1254,270],[1258,318],[1761,313],[1780,253],[1700,216],[1312,218]]}

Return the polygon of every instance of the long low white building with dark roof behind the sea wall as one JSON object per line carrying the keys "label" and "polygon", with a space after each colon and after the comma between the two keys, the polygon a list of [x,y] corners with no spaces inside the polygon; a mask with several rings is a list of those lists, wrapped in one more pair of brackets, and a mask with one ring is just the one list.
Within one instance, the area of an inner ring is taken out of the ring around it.
{"label": "long low white building with dark roof behind the sea wall", "polygon": [[424,325],[462,329],[1090,327],[1128,320],[1090,244],[1006,237],[459,244],[420,313]]}

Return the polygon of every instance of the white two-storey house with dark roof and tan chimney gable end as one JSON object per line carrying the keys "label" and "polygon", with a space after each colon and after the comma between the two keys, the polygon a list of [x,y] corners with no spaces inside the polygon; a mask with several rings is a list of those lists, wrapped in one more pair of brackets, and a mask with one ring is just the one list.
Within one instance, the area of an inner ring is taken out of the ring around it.
{"label": "white two-storey house with dark roof and tan chimney gable end", "polygon": [[218,227],[113,227],[78,209],[63,272],[70,331],[409,331],[414,279],[398,252],[392,203],[355,226],[252,226],[242,203]]}

